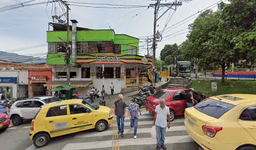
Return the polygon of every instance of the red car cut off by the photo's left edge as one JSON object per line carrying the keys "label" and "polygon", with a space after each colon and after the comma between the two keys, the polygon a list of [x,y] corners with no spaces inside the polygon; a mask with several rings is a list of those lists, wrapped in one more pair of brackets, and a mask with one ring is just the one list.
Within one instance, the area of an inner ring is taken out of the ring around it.
{"label": "red car cut off by the photo's left edge", "polygon": [[5,106],[0,105],[0,131],[7,129],[9,125],[8,109],[6,109]]}

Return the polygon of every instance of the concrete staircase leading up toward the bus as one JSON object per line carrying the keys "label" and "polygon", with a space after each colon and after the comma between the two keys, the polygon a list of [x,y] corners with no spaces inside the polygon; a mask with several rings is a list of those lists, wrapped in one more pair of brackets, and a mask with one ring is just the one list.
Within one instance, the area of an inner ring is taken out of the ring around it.
{"label": "concrete staircase leading up toward the bus", "polygon": [[171,78],[166,88],[188,88],[191,78]]}

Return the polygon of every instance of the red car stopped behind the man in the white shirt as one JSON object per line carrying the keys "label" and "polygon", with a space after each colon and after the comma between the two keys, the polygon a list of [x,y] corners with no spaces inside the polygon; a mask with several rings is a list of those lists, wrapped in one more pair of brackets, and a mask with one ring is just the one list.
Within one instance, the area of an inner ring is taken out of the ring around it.
{"label": "red car stopped behind the man in the white shirt", "polygon": [[[186,109],[186,94],[188,89],[183,88],[170,88],[161,89],[153,96],[149,96],[146,99],[146,109],[153,116],[155,114],[155,108],[159,105],[159,99],[165,99],[166,106],[170,109],[171,121],[174,120],[176,116],[183,116]],[[194,98],[197,96],[199,101],[205,99],[201,93],[193,92]]]}

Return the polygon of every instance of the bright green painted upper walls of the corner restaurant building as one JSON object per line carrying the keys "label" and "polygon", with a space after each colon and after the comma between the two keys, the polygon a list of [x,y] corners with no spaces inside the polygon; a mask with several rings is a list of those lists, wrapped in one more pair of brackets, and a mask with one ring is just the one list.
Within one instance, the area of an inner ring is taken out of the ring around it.
{"label": "bright green painted upper walls of the corner restaurant building", "polygon": [[[67,31],[47,31],[47,42],[67,41]],[[121,54],[127,54],[127,46],[137,47],[139,55],[139,39],[126,34],[115,34],[112,29],[77,31],[77,42],[112,41],[121,45]],[[70,31],[70,42],[72,42],[72,31]],[[114,53],[95,53],[90,55],[113,55]],[[81,56],[78,56],[78,58]],[[65,64],[65,54],[47,54],[47,64]]]}

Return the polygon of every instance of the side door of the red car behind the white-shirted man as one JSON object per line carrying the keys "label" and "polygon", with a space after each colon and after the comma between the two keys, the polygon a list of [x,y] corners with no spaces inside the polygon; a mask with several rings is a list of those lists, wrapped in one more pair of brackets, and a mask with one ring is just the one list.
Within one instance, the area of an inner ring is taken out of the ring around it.
{"label": "side door of the red car behind the white-shirted man", "polygon": [[176,109],[176,115],[183,115],[186,109],[186,100],[183,91],[178,91],[173,94],[173,107]]}

